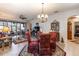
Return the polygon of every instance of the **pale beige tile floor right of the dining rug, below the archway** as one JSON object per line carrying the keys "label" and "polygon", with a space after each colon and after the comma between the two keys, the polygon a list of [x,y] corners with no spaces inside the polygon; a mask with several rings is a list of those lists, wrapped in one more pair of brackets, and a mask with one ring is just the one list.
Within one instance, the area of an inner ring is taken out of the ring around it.
{"label": "pale beige tile floor right of the dining rug, below the archway", "polygon": [[65,42],[63,49],[64,51],[66,51],[67,56],[79,56],[79,44],[67,41]]}

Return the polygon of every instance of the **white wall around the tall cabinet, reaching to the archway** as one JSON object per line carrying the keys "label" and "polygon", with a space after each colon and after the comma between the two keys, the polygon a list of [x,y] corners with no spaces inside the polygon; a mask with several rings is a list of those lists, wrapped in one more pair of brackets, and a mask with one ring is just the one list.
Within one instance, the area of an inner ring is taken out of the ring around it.
{"label": "white wall around the tall cabinet, reaching to the archway", "polygon": [[[49,16],[48,21],[46,23],[40,23],[41,28],[45,32],[50,31],[50,23],[53,20],[57,20],[60,22],[60,37],[63,37],[64,40],[67,40],[67,20],[71,16],[79,15],[79,9],[69,10],[69,11],[63,11],[56,14],[53,14]],[[38,20],[31,21],[32,28],[34,27],[35,23],[39,22]]]}

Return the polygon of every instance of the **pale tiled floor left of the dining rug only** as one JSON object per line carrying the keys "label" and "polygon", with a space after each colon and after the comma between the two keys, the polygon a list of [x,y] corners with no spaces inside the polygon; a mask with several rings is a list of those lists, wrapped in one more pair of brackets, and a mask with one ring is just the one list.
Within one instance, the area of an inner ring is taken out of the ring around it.
{"label": "pale tiled floor left of the dining rug only", "polygon": [[22,48],[27,45],[27,42],[14,44],[11,47],[5,47],[5,49],[0,49],[0,56],[18,56]]}

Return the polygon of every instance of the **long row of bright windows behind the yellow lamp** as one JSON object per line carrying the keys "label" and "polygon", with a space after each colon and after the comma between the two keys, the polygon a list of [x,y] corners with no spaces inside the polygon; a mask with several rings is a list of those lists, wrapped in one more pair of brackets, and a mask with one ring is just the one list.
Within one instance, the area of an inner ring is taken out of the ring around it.
{"label": "long row of bright windows behind the yellow lamp", "polygon": [[22,30],[25,31],[25,23],[20,22],[12,22],[12,21],[0,21],[0,31],[2,30],[3,26],[8,26],[10,31],[15,33],[21,32]]}

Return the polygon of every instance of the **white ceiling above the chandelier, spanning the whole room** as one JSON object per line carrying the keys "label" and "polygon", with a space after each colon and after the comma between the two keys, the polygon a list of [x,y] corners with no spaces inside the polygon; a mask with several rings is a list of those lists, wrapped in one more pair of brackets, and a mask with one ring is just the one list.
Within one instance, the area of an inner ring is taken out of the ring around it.
{"label": "white ceiling above the chandelier, spanning the whole room", "polygon": [[[48,15],[79,8],[78,3],[45,3],[45,12]],[[6,13],[15,18],[24,15],[27,19],[34,19],[41,13],[41,3],[0,3],[0,13]]]}

